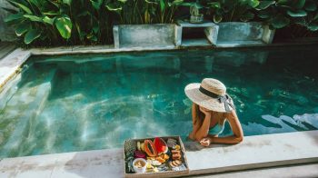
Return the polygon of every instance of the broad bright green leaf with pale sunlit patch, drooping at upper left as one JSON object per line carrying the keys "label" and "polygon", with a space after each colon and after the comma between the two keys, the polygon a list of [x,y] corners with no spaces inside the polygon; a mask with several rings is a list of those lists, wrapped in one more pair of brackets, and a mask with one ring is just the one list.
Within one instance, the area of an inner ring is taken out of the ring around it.
{"label": "broad bright green leaf with pale sunlit patch, drooping at upper left", "polygon": [[55,26],[62,37],[69,39],[72,34],[72,22],[69,16],[63,15],[55,19]]}

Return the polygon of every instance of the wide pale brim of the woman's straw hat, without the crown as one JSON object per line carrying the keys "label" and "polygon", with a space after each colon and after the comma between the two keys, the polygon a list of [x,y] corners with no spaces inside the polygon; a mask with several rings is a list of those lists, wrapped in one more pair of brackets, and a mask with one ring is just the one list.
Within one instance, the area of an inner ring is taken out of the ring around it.
{"label": "wide pale brim of the woman's straw hat, without the crown", "polygon": [[[202,94],[199,91],[199,88],[200,88],[199,83],[188,84],[184,88],[184,93],[186,96],[188,96],[188,98],[192,102],[194,102],[194,104],[201,105],[204,108],[215,111],[215,112],[221,112],[221,113],[226,112],[224,103],[220,103],[219,100],[216,98],[212,98],[210,96]],[[229,101],[231,102],[231,104],[234,104],[232,98]],[[232,111],[233,108],[231,106],[229,107],[230,107],[230,110]]]}

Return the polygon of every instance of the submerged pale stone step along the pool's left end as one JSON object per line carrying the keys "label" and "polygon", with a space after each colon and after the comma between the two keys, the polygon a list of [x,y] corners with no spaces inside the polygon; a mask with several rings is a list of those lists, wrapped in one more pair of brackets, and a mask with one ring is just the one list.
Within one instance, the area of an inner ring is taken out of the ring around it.
{"label": "submerged pale stone step along the pool's left end", "polygon": [[[0,157],[24,154],[25,149],[32,150],[20,145],[23,142],[32,142],[30,139],[34,132],[34,123],[50,94],[55,69],[39,73],[41,74],[29,74],[16,86],[12,86],[19,89],[0,111],[0,126],[4,128],[0,135]],[[27,79],[34,76],[38,77],[33,80]]]}

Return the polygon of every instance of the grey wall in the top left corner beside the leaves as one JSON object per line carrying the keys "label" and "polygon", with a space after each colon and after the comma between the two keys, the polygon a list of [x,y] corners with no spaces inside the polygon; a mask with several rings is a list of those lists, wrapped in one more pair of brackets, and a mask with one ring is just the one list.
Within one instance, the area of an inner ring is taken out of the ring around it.
{"label": "grey wall in the top left corner beside the leaves", "polygon": [[[6,0],[0,0],[0,7],[12,8],[12,6],[8,4]],[[1,41],[14,41],[14,29],[6,25],[4,21],[7,15],[9,15],[9,13],[0,8],[0,39]]]}

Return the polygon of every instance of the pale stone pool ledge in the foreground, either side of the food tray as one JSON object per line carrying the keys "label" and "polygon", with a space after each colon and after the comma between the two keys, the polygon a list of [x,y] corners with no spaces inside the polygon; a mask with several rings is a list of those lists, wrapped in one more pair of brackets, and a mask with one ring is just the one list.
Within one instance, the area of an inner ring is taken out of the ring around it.
{"label": "pale stone pool ledge in the foreground, either side of the food tray", "polygon": [[[243,143],[209,148],[193,142],[184,146],[190,176],[314,163],[305,170],[317,167],[318,163],[318,131],[246,136]],[[123,149],[108,149],[5,158],[0,162],[0,177],[124,177],[123,152]],[[269,173],[271,169],[266,170]],[[248,172],[239,173],[248,175]],[[298,175],[306,177],[314,173],[317,172],[303,171]]]}

